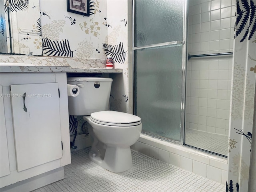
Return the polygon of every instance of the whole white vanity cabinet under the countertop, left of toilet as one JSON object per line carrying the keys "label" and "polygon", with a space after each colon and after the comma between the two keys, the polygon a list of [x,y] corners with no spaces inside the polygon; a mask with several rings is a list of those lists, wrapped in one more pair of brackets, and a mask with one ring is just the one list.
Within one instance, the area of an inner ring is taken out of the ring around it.
{"label": "whole white vanity cabinet under the countertop, left of toilet", "polygon": [[[50,176],[51,171],[70,164],[66,73],[1,73],[0,84],[4,106],[1,103],[1,188],[46,172]],[[6,144],[2,151],[3,118]],[[9,174],[2,175],[2,166],[8,164]]]}

